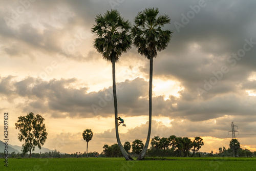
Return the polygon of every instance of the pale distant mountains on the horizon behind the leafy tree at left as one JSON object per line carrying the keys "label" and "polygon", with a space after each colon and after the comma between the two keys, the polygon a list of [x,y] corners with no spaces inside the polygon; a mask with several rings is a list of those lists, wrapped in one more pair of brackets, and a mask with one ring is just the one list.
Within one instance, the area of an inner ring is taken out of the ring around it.
{"label": "pale distant mountains on the horizon behind the leafy tree at left", "polygon": [[[5,144],[3,141],[0,140],[0,153],[4,153],[4,150],[5,150]],[[8,153],[10,154],[12,152],[15,152],[16,154],[22,153],[22,146],[8,144]],[[49,148],[44,148],[44,147],[41,147],[41,149],[39,149],[38,147],[35,147],[35,151],[32,153],[40,153],[40,152],[41,153],[54,152],[54,150]],[[61,153],[61,154],[65,154],[65,153]]]}

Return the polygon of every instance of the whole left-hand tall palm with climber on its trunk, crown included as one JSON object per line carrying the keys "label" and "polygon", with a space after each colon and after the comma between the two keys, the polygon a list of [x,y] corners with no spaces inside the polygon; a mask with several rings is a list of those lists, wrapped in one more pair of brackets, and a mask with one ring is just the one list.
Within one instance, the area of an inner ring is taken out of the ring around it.
{"label": "whole left-hand tall palm with climber on its trunk, crown included", "polygon": [[[124,20],[117,10],[106,11],[102,16],[97,15],[95,18],[96,24],[93,25],[92,33],[95,33],[97,38],[94,41],[94,47],[102,54],[103,59],[112,62],[112,78],[113,78],[113,96],[115,117],[117,118],[117,97],[116,97],[116,71],[115,63],[119,57],[127,52],[132,47],[132,36],[129,34],[131,23],[129,20]],[[122,155],[126,160],[133,160],[123,148],[119,133],[118,123],[115,119],[116,139]]]}

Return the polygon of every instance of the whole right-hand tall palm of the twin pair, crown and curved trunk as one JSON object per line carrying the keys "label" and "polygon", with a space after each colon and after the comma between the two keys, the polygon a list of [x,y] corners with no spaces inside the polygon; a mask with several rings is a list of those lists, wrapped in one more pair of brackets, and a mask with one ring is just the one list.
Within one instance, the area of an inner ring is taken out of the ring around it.
{"label": "whole right-hand tall palm of the twin pair, crown and curved trunk", "polygon": [[172,37],[170,30],[162,30],[165,24],[170,23],[167,15],[158,16],[158,8],[148,8],[141,11],[135,17],[135,25],[132,28],[134,37],[134,46],[138,53],[150,60],[150,85],[148,91],[149,98],[149,121],[148,133],[145,146],[138,157],[138,160],[144,158],[148,144],[150,143],[151,123],[152,123],[152,82],[153,82],[153,58],[157,56],[157,51],[162,51],[168,46]]}

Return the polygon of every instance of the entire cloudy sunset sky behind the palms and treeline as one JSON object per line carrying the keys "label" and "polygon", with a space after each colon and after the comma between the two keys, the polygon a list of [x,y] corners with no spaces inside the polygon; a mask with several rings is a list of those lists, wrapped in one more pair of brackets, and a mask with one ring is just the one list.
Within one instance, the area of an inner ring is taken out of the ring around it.
{"label": "entire cloudy sunset sky behind the palms and treeline", "polygon": [[[201,151],[215,153],[228,147],[234,122],[241,146],[256,151],[254,0],[0,1],[0,112],[9,113],[9,143],[22,145],[14,123],[30,112],[45,118],[44,147],[84,152],[86,129],[94,132],[89,151],[116,143],[112,65],[93,48],[91,28],[106,10],[134,23],[149,7],[167,14],[165,29],[174,32],[154,59],[151,137],[201,136]],[[135,48],[116,64],[123,143],[145,142],[148,74],[149,61]]]}

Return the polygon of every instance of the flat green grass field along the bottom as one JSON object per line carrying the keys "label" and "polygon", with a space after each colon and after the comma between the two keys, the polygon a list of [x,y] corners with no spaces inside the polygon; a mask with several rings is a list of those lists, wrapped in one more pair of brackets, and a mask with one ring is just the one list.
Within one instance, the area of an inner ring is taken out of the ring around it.
{"label": "flat green grass field along the bottom", "polygon": [[9,158],[8,167],[5,167],[4,162],[1,162],[0,170],[256,170],[256,158],[155,159],[157,160],[126,161],[124,158]]}

